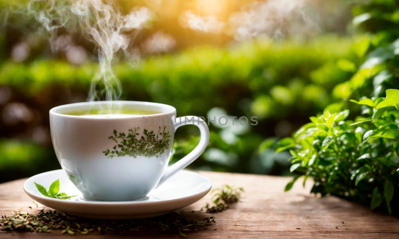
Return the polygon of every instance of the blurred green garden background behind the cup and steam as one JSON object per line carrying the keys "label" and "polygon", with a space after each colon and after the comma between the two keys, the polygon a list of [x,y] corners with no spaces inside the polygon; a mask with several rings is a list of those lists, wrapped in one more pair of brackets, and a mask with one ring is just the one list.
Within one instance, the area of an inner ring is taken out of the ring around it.
{"label": "blurred green garden background behind the cup and steam", "polygon": [[[133,7],[129,1],[119,2],[127,12]],[[170,4],[180,6],[174,9],[176,12],[191,8],[178,2]],[[250,2],[231,1],[228,10],[239,10]],[[135,4],[152,6],[147,1]],[[372,84],[369,79],[373,73],[359,73],[358,68],[374,45],[392,38],[395,34],[389,35],[390,32],[398,31],[397,1],[371,1],[366,7],[345,1],[321,5],[314,6],[315,10],[327,14],[320,15],[322,25],[316,33],[284,31],[285,37],[281,39],[265,34],[246,41],[236,41],[225,33],[198,33],[179,27],[176,14],[169,16],[152,8],[157,19],[138,35],[137,44],[144,44],[146,38],[161,29],[176,39],[175,47],[166,52],[143,53],[134,66],[117,59],[113,70],[122,83],[121,99],[170,104],[177,109],[178,116],[257,116],[259,124],[255,126],[211,124],[208,148],[190,168],[288,175],[290,154],[275,153],[273,149],[259,151],[259,145],[265,138],[290,136],[328,104],[354,96],[358,84]],[[93,45],[73,35],[77,39],[74,44],[83,47],[88,55],[85,61],[72,64],[65,53],[51,53],[48,34],[38,34],[32,20],[7,12],[9,1],[0,2],[0,6],[4,8],[2,16],[8,19],[0,30],[3,182],[59,168],[51,146],[48,110],[85,101],[98,63]],[[193,9],[198,10],[198,6]],[[221,9],[219,19],[223,20],[229,12]],[[367,11],[371,16],[351,21],[352,14],[361,16]],[[384,22],[387,16],[389,24]],[[385,35],[369,34],[380,25],[387,28]],[[359,30],[364,26],[365,31]],[[61,29],[58,34],[65,33]],[[26,45],[29,54],[20,60],[15,47],[23,51]],[[348,81],[355,72],[357,78]],[[384,88],[379,90],[384,92]],[[196,127],[179,129],[173,160],[195,147],[198,138],[191,135],[198,135]]]}

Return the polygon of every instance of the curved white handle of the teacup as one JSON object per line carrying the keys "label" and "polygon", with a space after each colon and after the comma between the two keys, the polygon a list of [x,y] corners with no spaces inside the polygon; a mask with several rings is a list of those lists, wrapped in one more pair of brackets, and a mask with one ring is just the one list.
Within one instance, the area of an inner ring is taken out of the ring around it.
{"label": "curved white handle of the teacup", "polygon": [[184,156],[182,159],[174,163],[172,166],[166,168],[166,171],[162,175],[161,179],[159,180],[157,186],[158,188],[161,184],[163,184],[168,178],[170,178],[173,174],[182,170],[183,168],[187,167],[190,163],[194,162],[201,153],[205,150],[206,146],[209,142],[209,129],[208,125],[205,121],[198,116],[184,116],[176,118],[176,123],[174,127],[174,131],[182,125],[196,125],[199,128],[199,132],[201,137],[199,139],[199,143],[197,147],[193,149],[188,155]]}

